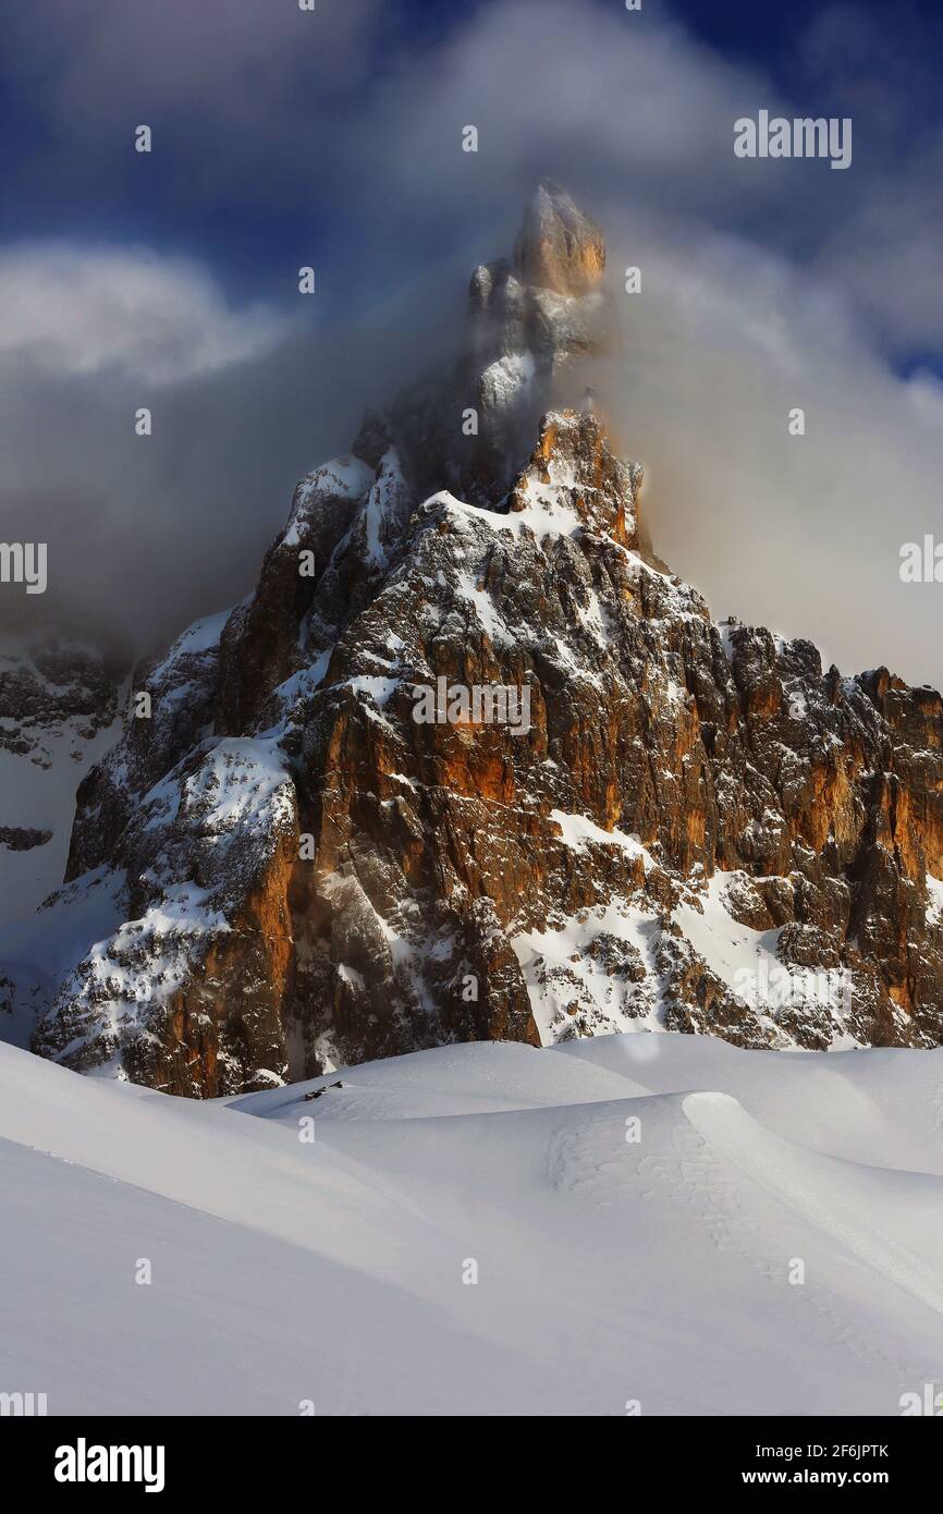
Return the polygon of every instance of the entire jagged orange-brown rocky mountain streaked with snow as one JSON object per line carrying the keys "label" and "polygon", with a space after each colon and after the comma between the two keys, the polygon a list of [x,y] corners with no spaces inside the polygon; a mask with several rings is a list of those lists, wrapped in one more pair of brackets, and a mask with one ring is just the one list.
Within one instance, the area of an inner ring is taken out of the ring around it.
{"label": "entire jagged orange-brown rocky mountain streaked with snow", "polygon": [[714,624],[645,553],[580,406],[604,257],[540,185],[457,365],[138,672],[48,905],[110,925],[36,1051],[212,1096],[454,1040],[943,1042],[940,695]]}

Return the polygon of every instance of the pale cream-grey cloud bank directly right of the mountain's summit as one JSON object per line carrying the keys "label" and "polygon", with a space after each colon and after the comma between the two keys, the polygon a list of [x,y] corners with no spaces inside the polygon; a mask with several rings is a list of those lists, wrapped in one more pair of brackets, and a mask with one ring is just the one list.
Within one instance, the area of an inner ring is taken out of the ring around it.
{"label": "pale cream-grey cloud bank directly right of the mountain's summit", "polygon": [[902,584],[899,550],[943,539],[943,386],[898,377],[811,269],[733,238],[637,221],[633,236],[646,283],[622,300],[605,397],[646,465],[655,548],[717,616],[807,636],[848,672],[940,686],[943,590]]}

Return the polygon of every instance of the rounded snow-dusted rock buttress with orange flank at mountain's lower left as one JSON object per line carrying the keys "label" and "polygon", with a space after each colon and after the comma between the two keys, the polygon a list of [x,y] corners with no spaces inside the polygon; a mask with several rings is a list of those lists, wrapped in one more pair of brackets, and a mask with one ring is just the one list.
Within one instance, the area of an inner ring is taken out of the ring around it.
{"label": "rounded snow-dusted rock buttress with orange flank at mountain's lower left", "polygon": [[297,830],[275,742],[200,742],[142,796],[118,854],[126,921],[68,977],[33,1048],[171,1093],[277,1083]]}

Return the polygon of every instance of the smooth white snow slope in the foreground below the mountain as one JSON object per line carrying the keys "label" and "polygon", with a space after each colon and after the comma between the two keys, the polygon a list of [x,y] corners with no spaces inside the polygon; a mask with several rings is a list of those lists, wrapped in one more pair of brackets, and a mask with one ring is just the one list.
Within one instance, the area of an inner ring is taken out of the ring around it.
{"label": "smooth white snow slope in the foreground below the mountain", "polygon": [[943,1381],[943,1051],[472,1045],[194,1104],[0,1046],[0,1391],[50,1414],[899,1414]]}

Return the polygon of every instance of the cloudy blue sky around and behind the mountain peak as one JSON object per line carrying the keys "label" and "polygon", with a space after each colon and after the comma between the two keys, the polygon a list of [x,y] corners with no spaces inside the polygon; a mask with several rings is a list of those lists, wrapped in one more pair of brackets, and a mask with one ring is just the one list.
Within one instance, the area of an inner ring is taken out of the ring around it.
{"label": "cloudy blue sky around and behind the mountain peak", "polygon": [[[0,484],[8,534],[38,522],[82,565],[30,613],[94,601],[147,642],[244,593],[294,478],[450,356],[471,268],[551,174],[613,271],[646,262],[612,403],[657,545],[717,613],[852,665],[879,630],[931,675],[929,601],[878,630],[863,607],[898,592],[881,471],[914,534],[940,510],[941,27],[935,0],[8,6]],[[852,117],[852,168],[736,160],[760,107]],[[784,453],[790,394],[817,422]],[[776,542],[772,584],[748,534]],[[831,610],[810,540],[848,583]]]}

